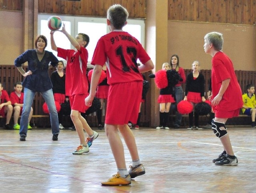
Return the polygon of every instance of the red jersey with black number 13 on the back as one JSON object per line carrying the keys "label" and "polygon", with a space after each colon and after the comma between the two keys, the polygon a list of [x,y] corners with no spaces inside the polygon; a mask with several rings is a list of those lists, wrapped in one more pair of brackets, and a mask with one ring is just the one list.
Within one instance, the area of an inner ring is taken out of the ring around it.
{"label": "red jersey with black number 13 on the back", "polygon": [[144,64],[150,60],[150,57],[135,37],[117,30],[98,40],[91,64],[103,66],[106,63],[108,84],[112,85],[143,81],[137,59]]}

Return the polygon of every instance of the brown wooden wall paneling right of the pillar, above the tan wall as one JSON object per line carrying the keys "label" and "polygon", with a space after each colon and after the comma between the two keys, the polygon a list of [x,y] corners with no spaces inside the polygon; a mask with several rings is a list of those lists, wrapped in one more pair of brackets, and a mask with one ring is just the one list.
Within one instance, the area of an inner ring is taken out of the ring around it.
{"label": "brown wooden wall paneling right of the pillar, above the tan wall", "polygon": [[168,0],[168,19],[253,25],[256,0]]}

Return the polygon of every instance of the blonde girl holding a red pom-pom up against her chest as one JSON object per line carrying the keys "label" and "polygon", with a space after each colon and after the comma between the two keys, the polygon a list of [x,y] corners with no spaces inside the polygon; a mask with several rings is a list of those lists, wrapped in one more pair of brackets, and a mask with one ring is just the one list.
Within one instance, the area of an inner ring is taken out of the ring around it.
{"label": "blonde girl holding a red pom-pom up against her chest", "polygon": [[[156,127],[156,129],[161,129],[161,128],[169,129],[169,127],[166,124],[168,120],[170,106],[172,102],[175,102],[174,97],[172,96],[173,87],[168,84],[167,75],[166,75],[166,71],[170,69],[171,69],[170,64],[165,62],[162,65],[162,70],[156,73],[155,81],[156,81],[156,84],[158,85],[158,88],[160,88],[160,95],[157,100],[157,102],[160,104],[160,112],[159,112],[160,124],[158,127]],[[162,74],[162,76],[158,76],[158,74],[160,73]],[[164,79],[163,76],[166,76],[166,79]],[[160,83],[159,81],[163,81],[163,82]],[[159,86],[160,84],[162,86]]]}

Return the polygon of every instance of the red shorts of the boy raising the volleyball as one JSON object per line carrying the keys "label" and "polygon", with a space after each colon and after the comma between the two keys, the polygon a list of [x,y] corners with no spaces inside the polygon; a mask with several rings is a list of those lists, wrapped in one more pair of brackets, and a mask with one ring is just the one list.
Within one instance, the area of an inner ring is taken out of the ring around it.
{"label": "red shorts of the boy raising the volleyball", "polygon": [[77,110],[79,112],[85,112],[89,106],[85,105],[84,99],[88,94],[72,95],[69,96],[71,110]]}

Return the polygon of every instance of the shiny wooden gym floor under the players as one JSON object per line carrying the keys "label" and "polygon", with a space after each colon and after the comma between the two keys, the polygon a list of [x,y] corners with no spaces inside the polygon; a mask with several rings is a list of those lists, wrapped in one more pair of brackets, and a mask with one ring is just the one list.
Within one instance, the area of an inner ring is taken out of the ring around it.
{"label": "shiny wooden gym floor under the players", "polygon": [[76,131],[61,130],[52,141],[49,128],[32,129],[20,142],[18,130],[0,129],[0,192],[256,192],[256,128],[228,128],[238,166],[212,163],[223,150],[210,129],[133,130],[146,174],[112,187],[100,184],[116,173],[116,165],[104,130],[96,131],[90,152],[73,155]]}

